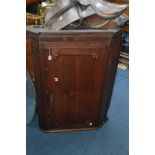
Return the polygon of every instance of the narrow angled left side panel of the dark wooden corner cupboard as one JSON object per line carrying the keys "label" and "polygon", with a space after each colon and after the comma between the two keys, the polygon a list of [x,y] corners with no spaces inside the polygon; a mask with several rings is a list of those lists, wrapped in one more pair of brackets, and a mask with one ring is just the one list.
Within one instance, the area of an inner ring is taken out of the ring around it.
{"label": "narrow angled left side panel of the dark wooden corner cupboard", "polygon": [[37,34],[31,34],[31,52],[32,52],[32,60],[34,67],[34,85],[36,90],[36,103],[37,103],[37,112],[38,112],[38,120],[39,126],[42,129],[48,128],[48,117],[47,117],[47,105],[45,102],[45,86],[44,86],[44,74],[42,70],[43,66],[43,54],[39,49],[39,38]]}

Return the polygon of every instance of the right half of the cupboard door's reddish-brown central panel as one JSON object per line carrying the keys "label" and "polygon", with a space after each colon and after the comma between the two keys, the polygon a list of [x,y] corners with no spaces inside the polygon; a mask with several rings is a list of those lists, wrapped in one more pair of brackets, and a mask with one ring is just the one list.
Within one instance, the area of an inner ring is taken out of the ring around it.
{"label": "right half of the cupboard door's reddish-brown central panel", "polygon": [[81,121],[85,120],[87,123],[96,123],[108,68],[109,54],[103,48],[90,49],[90,52],[96,54],[96,58],[77,57],[76,89],[78,95],[76,118]]}

